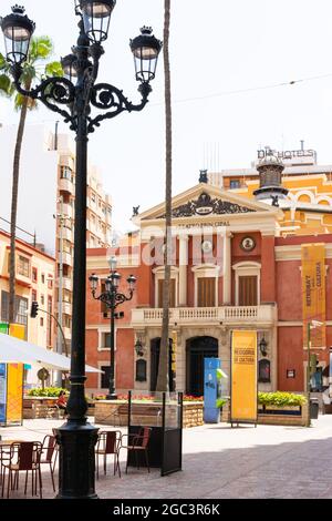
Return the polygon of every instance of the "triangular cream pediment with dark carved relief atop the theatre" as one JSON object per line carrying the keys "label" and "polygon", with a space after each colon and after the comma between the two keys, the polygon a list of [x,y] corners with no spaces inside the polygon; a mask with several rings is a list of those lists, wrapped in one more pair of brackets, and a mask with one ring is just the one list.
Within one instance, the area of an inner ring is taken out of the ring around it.
{"label": "triangular cream pediment with dark carved relief atop the theatre", "polygon": [[[251,201],[229,191],[224,191],[216,186],[200,183],[193,188],[173,197],[172,212],[173,218],[177,219],[212,215],[245,215],[258,212],[272,213],[278,215],[280,210],[276,206]],[[164,218],[165,203],[162,203],[146,212],[143,212],[133,221],[146,222]]]}

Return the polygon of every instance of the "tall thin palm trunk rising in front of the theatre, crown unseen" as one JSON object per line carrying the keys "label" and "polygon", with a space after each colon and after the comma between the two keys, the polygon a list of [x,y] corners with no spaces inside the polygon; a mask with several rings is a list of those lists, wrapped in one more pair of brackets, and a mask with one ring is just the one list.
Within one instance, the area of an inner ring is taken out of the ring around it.
{"label": "tall thin palm trunk rising in front of the theatre, crown unseen", "polygon": [[164,3],[164,73],[165,73],[165,119],[166,119],[166,219],[165,219],[165,254],[164,254],[164,292],[163,292],[163,326],[159,351],[157,391],[168,391],[168,349],[169,349],[169,286],[172,262],[172,96],[169,65],[169,25],[170,0]]}

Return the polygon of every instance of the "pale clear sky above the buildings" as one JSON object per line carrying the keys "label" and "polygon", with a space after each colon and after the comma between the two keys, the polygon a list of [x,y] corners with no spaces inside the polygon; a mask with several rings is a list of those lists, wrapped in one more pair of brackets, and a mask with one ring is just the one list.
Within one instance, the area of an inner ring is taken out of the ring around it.
{"label": "pale clear sky above the buildings", "polygon": [[[13,3],[1,0],[1,14]],[[76,40],[74,0],[22,3],[35,34],[51,35],[56,55],[69,53]],[[163,0],[117,0],[113,13],[98,81],[133,101],[139,94],[128,41],[143,24],[162,39],[163,9]],[[299,149],[304,140],[320,163],[332,164],[331,0],[173,0],[172,10],[175,194],[196,184],[199,168],[250,166],[260,145]],[[314,76],[325,78],[289,84]],[[279,83],[288,84],[260,89]],[[122,229],[133,206],[143,211],[164,198],[163,59],[153,89],[142,113],[104,122],[90,141]],[[0,122],[15,118],[1,100]],[[56,119],[45,109],[29,115],[50,125]]]}

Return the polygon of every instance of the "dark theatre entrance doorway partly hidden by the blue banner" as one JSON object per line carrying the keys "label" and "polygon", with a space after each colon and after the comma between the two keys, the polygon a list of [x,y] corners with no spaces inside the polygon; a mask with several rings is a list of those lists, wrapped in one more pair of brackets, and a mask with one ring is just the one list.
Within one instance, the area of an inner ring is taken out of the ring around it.
{"label": "dark theatre entrance doorway partly hidden by the blue banner", "polygon": [[204,359],[218,357],[218,340],[214,337],[196,337],[187,340],[186,392],[204,395]]}

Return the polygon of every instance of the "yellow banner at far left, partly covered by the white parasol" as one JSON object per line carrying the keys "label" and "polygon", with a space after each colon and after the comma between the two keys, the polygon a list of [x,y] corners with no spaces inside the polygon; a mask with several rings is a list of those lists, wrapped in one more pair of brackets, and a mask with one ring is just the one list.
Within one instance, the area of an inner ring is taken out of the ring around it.
{"label": "yellow banner at far left, partly covered by the white parasol", "polygon": [[[25,338],[25,327],[11,324],[12,337]],[[21,423],[23,418],[23,364],[8,364],[7,371],[7,423]]]}

